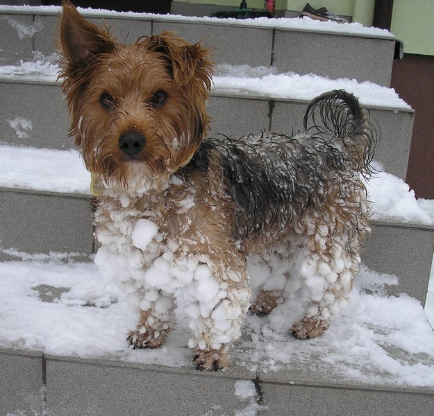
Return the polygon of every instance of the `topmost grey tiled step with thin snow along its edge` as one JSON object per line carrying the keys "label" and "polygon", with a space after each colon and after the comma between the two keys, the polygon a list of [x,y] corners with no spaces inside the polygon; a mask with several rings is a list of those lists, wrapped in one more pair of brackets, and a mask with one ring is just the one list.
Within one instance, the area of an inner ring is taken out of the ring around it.
{"label": "topmost grey tiled step with thin snow along its edge", "polygon": [[[35,51],[50,55],[58,20],[56,7],[0,6],[0,60],[16,64]],[[81,10],[90,21],[106,21],[121,42],[174,31],[189,42],[216,48],[217,63],[272,65],[278,71],[390,85],[394,36],[360,24],[309,19],[211,19]]]}

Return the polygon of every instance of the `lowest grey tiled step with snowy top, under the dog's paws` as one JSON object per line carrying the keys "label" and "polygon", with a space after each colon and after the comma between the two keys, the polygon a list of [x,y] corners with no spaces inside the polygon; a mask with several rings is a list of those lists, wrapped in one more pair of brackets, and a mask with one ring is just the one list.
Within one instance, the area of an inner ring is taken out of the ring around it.
{"label": "lowest grey tiled step with snowy top, under the dog's paws", "polygon": [[21,256],[0,263],[1,415],[431,415],[434,332],[415,300],[385,295],[390,277],[362,270],[312,340],[274,324],[278,310],[248,315],[214,373],[194,370],[182,307],[161,349],[134,350],[126,302],[92,304],[110,291],[94,266]]}

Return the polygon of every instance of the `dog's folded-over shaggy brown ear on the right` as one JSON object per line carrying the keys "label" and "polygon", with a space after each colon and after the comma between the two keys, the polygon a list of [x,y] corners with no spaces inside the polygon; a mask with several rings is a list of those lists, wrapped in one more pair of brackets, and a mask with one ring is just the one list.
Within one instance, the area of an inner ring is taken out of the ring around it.
{"label": "dog's folded-over shaggy brown ear on the right", "polygon": [[185,87],[192,81],[201,82],[209,92],[214,61],[212,49],[201,44],[188,44],[172,32],[163,32],[148,38],[149,50],[162,53],[178,87]]}

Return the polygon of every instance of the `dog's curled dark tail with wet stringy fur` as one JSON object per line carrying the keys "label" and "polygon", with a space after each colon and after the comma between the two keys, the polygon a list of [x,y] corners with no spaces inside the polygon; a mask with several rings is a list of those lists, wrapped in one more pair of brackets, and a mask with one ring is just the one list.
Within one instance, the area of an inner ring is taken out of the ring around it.
{"label": "dog's curled dark tail with wet stringy fur", "polygon": [[[319,116],[319,119],[318,119]],[[312,120],[313,127],[308,128]],[[304,129],[315,128],[324,139],[342,141],[344,153],[352,160],[352,168],[365,177],[373,171],[370,167],[377,133],[369,116],[369,110],[360,105],[358,98],[343,89],[336,89],[312,100],[304,116]]]}

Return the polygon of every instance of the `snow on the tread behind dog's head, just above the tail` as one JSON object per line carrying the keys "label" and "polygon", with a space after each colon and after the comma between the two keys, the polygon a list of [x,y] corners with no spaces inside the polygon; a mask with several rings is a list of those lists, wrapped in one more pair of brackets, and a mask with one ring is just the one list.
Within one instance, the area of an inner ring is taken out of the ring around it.
{"label": "snow on the tread behind dog's head, just above the tail", "polygon": [[[37,56],[33,62],[18,66],[0,66],[0,81],[27,80],[29,83],[56,83],[58,65],[56,57]],[[411,107],[399,98],[392,88],[365,81],[359,83],[349,78],[333,80],[313,73],[277,73],[273,67],[249,67],[248,65],[219,64],[213,77],[211,94],[232,94],[287,100],[310,101],[315,96],[332,89],[352,92],[360,103],[369,107],[384,107],[394,110],[410,110]]]}

